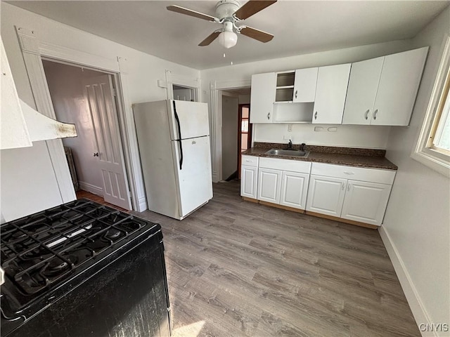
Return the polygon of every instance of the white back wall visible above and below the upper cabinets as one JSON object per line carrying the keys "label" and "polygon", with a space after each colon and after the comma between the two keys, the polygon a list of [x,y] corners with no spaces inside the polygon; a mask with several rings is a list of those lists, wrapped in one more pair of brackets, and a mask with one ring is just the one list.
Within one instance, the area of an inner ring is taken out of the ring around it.
{"label": "white back wall visible above and below the upper cabinets", "polygon": [[[249,62],[241,65],[231,65],[210,70],[202,70],[202,93],[204,101],[210,103],[210,83],[226,84],[230,81],[250,81],[252,74],[264,72],[279,72],[321,65],[336,65],[375,58],[390,53],[398,53],[412,49],[410,40],[391,41],[383,44],[372,44],[337,51],[325,51],[297,55],[289,58],[278,58]],[[299,51],[301,54],[301,51]],[[251,107],[250,107],[251,109]],[[334,125],[335,126],[335,125]],[[390,127],[373,126],[337,126],[338,132],[315,132],[314,126],[294,124],[289,137],[293,143],[311,145],[342,145],[352,147],[382,148],[387,146],[387,136]],[[287,135],[287,124],[255,124],[253,131],[255,141],[286,143],[283,136]]]}

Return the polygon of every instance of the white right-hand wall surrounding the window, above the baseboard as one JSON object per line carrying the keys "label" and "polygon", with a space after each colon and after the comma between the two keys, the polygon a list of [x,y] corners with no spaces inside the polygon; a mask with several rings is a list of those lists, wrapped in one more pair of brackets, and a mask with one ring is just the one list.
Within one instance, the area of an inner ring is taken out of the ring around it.
{"label": "white right-hand wall surrounding the window, above the baseboard", "polygon": [[[413,39],[415,48],[430,46],[428,60],[411,124],[409,128],[392,127],[387,142],[387,158],[399,170],[380,232],[391,249],[418,324],[450,324],[450,180],[410,157],[430,100],[445,34],[450,34],[449,7]],[[449,331],[438,335],[449,336]]]}

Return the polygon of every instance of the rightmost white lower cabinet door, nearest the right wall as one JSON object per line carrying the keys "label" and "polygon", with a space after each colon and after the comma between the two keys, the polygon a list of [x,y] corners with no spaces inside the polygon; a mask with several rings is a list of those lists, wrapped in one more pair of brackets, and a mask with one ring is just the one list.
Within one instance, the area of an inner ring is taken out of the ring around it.
{"label": "rightmost white lower cabinet door, nearest the right wall", "polygon": [[385,216],[391,185],[349,180],[342,218],[381,225]]}

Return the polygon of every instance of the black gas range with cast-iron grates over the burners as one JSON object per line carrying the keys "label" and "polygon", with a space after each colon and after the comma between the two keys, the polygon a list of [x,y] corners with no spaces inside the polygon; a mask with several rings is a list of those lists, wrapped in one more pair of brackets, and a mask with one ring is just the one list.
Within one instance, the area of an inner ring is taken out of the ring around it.
{"label": "black gas range with cast-iron grates over the burners", "polygon": [[1,337],[169,336],[160,225],[79,199],[0,239]]}

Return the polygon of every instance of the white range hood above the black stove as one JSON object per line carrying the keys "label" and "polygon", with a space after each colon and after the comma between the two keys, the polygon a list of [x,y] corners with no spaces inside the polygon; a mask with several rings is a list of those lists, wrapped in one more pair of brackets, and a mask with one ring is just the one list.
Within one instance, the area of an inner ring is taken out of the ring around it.
{"label": "white range hood above the black stove", "polygon": [[61,123],[20,100],[1,41],[0,149],[30,147],[37,140],[76,137],[74,124]]}

